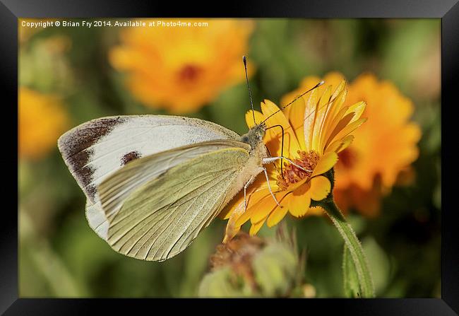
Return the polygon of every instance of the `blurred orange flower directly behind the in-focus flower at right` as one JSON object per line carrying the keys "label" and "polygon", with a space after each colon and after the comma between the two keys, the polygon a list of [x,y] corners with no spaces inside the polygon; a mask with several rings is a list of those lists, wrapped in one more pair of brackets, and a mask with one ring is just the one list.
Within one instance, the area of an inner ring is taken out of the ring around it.
{"label": "blurred orange flower directly behind the in-focus flower at right", "polygon": [[[338,86],[342,78],[333,72],[323,80]],[[314,76],[304,78],[301,88],[287,94],[281,104],[312,88],[318,80]],[[355,131],[352,145],[339,153],[333,194],[344,211],[354,207],[366,216],[376,216],[381,195],[397,183],[398,177],[410,173],[410,164],[418,156],[416,144],[421,130],[410,122],[414,110],[411,100],[393,83],[362,74],[350,83],[345,105],[358,100],[367,103],[364,116],[369,120]]]}

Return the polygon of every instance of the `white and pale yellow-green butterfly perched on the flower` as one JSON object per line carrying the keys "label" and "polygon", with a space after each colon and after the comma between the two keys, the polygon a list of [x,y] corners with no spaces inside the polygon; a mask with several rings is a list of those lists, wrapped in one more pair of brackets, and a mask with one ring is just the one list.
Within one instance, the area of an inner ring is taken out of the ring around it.
{"label": "white and pale yellow-green butterfly perched on the flower", "polygon": [[67,131],[58,146],[97,235],[121,254],[163,261],[256,175],[264,171],[268,180],[263,163],[287,159],[268,156],[265,131],[263,122],[239,136],[202,119],[103,117]]}

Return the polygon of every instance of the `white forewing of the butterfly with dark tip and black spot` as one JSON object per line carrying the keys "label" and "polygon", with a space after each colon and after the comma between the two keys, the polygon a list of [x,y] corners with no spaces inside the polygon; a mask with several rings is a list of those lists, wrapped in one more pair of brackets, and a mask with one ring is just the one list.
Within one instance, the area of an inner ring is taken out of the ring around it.
{"label": "white forewing of the butterfly with dark tip and black spot", "polygon": [[[103,117],[71,129],[58,146],[88,201],[90,227],[107,238],[108,223],[97,197],[97,186],[131,160],[171,148],[239,135],[212,122],[165,115]],[[169,167],[181,160],[171,160]]]}

